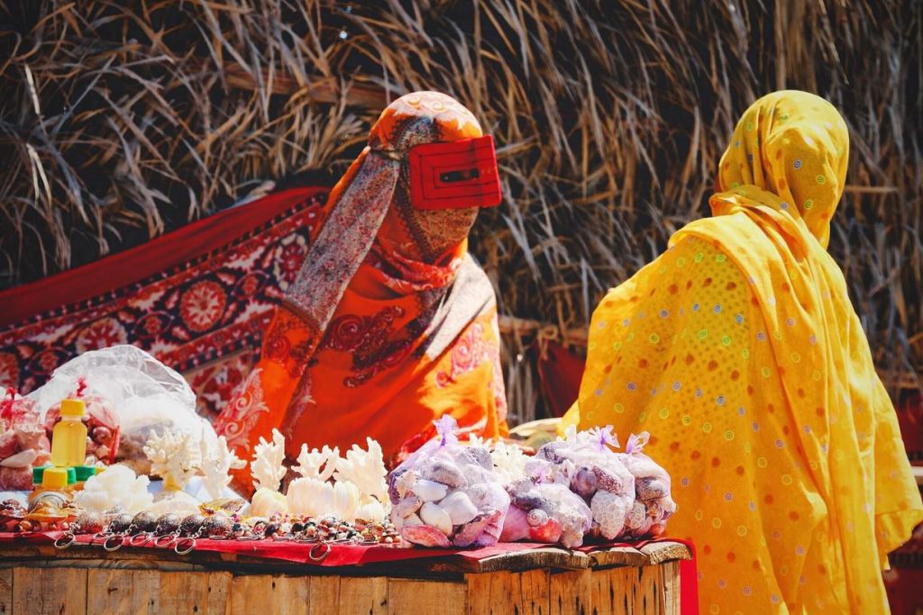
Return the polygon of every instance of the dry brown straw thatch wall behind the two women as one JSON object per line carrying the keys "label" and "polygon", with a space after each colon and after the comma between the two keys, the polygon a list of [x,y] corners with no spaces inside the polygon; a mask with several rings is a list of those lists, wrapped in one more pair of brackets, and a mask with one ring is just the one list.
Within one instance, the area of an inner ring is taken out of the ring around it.
{"label": "dry brown straw thatch wall behind the two women", "polygon": [[[579,331],[704,215],[738,113],[808,89],[850,127],[831,251],[895,391],[923,365],[921,22],[917,0],[6,0],[0,287],[336,176],[387,101],[438,89],[499,144],[507,199],[472,243],[502,313]],[[520,419],[531,339],[508,338]]]}

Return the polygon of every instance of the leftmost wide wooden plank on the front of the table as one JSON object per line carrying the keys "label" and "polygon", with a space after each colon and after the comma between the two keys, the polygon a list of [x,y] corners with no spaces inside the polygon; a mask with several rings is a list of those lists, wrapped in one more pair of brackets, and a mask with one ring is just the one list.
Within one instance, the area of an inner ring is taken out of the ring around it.
{"label": "leftmost wide wooden plank on the front of the table", "polygon": [[13,612],[83,615],[87,612],[87,571],[54,568],[38,574],[29,568],[14,568]]}

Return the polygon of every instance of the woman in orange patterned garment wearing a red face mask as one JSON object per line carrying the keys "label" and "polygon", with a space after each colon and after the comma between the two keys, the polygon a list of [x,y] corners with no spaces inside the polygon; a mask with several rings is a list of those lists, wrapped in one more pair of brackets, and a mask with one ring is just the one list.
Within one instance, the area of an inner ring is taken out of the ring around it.
{"label": "woman in orange patterned garment wearing a red face mask", "polygon": [[[292,458],[302,443],[343,450],[366,436],[388,458],[444,414],[465,432],[506,434],[496,298],[467,239],[478,207],[499,203],[493,157],[449,96],[416,92],[382,112],[310,230],[260,361],[216,420],[237,455],[275,428]],[[480,175],[467,168],[477,164]]]}

